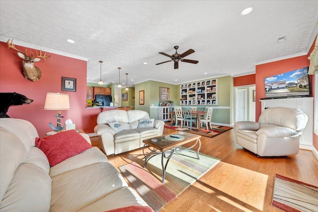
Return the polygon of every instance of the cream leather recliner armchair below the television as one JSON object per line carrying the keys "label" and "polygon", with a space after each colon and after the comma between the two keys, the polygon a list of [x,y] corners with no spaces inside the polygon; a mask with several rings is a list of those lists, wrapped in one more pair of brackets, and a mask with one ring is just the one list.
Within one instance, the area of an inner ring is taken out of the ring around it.
{"label": "cream leather recliner armchair below the television", "polygon": [[265,109],[258,122],[236,122],[236,142],[258,156],[297,154],[307,115],[296,108]]}

